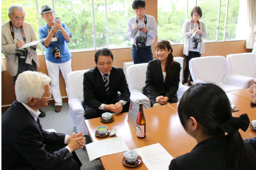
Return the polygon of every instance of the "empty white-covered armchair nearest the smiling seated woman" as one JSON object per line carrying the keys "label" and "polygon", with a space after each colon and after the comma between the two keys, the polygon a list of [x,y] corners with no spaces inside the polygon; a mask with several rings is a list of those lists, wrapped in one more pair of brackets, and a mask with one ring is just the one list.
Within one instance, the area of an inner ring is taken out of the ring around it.
{"label": "empty white-covered armchair nearest the smiling seated woman", "polygon": [[231,74],[223,56],[193,58],[189,61],[190,74],[195,83],[213,82],[226,93],[248,88],[253,78]]}

